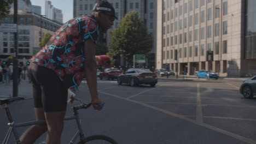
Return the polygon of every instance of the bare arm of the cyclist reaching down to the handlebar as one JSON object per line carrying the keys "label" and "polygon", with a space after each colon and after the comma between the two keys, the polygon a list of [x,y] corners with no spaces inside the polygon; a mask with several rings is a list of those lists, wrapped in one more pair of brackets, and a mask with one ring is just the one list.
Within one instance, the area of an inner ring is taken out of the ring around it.
{"label": "bare arm of the cyclist reaching down to the handlebar", "polygon": [[95,59],[95,50],[96,44],[93,43],[91,39],[86,40],[84,43],[84,72],[86,74],[86,81],[91,94],[92,106],[94,106],[94,109],[100,110],[101,107],[96,105],[98,103],[102,103],[102,101],[98,98],[97,92],[97,63]]}

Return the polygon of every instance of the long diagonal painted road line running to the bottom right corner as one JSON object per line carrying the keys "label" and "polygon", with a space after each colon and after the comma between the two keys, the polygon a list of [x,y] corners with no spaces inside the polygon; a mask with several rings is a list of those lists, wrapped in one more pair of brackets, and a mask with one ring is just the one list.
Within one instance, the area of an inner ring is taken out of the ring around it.
{"label": "long diagonal painted road line running to the bottom right corner", "polygon": [[237,134],[231,133],[229,131],[226,131],[226,130],[214,127],[214,126],[212,126],[210,124],[196,122],[193,119],[184,117],[182,115],[178,115],[177,113],[173,113],[173,112],[170,112],[170,111],[167,111],[167,110],[164,110],[164,109],[159,109],[158,107],[155,107],[155,106],[152,106],[152,105],[148,105],[148,104],[144,104],[144,103],[141,103],[141,102],[136,101],[136,100],[131,100],[131,99],[119,97],[118,95],[109,94],[109,93],[105,93],[105,92],[100,92],[100,93],[107,94],[107,95],[110,95],[110,96],[118,98],[118,99],[123,99],[123,100],[126,100],[126,101],[130,101],[131,103],[135,103],[135,104],[142,105],[142,106],[148,107],[148,108],[156,110],[156,111],[160,111],[160,112],[165,113],[167,115],[183,119],[184,121],[188,121],[188,122],[191,122],[191,123],[194,123],[194,124],[197,124],[197,125],[201,125],[202,127],[205,127],[205,128],[208,128],[208,129],[211,129],[211,130],[214,130],[214,131],[217,131],[218,133],[222,133],[222,134],[228,135],[230,137],[233,137],[233,138],[235,138],[237,140],[241,140],[241,141],[246,142],[246,143],[256,144],[256,141],[254,141],[252,139],[248,139],[248,138],[243,137],[241,135],[237,135]]}

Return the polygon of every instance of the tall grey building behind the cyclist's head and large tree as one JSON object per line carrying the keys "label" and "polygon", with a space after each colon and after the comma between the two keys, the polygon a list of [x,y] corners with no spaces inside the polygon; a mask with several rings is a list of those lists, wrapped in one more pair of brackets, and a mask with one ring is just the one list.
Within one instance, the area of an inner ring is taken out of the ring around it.
{"label": "tall grey building behind the cyclist's head and large tree", "polygon": [[[98,0],[73,0],[73,16],[77,17],[80,15],[90,15],[95,3]],[[125,16],[125,14],[131,11],[136,11],[141,20],[143,20],[148,28],[148,33],[150,33],[154,38],[153,49],[149,52],[149,57],[147,59],[147,64],[149,67],[155,67],[155,52],[156,52],[156,0],[108,0],[110,4],[113,5],[115,9],[115,15],[118,20],[114,21],[114,25],[108,29],[106,34],[104,34],[104,39],[106,39],[107,46],[110,41],[110,34]],[[121,59],[120,65],[124,65]]]}

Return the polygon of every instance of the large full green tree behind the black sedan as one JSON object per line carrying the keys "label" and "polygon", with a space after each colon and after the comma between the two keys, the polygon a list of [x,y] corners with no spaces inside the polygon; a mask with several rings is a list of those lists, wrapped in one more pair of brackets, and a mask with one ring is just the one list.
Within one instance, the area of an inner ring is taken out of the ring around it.
{"label": "large full green tree behind the black sedan", "polygon": [[133,55],[147,54],[153,47],[153,38],[147,32],[144,22],[132,11],[126,14],[120,25],[110,35],[109,55],[121,56],[131,65]]}

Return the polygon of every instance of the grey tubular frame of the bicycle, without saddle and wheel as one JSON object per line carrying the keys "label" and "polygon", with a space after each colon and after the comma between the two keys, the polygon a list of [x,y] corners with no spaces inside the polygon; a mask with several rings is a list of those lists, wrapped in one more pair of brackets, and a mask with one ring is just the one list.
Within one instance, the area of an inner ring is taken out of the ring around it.
{"label": "grey tubular frame of the bicycle, without saddle and wheel", "polygon": [[[74,99],[78,100],[79,103],[81,104],[81,101],[79,99],[77,99],[77,98],[74,98]],[[80,105],[80,106],[82,106],[82,105]],[[78,126],[78,131],[77,131],[77,133],[75,133],[72,140],[69,142],[70,144],[73,144],[75,142],[75,140],[77,140],[78,136],[80,137],[80,141],[85,140],[82,125],[80,123],[80,118],[79,118],[79,115],[78,115],[79,108],[75,108],[75,107],[79,107],[79,106],[73,106],[72,107],[73,112],[74,112],[74,116],[65,117],[63,119],[64,121],[69,121],[69,120],[75,119],[75,122],[77,123],[77,126]],[[24,122],[24,123],[15,123],[13,121],[13,118],[10,115],[10,111],[9,111],[8,106],[7,105],[0,105],[0,108],[5,110],[5,113],[7,114],[7,117],[8,117],[8,120],[9,120],[8,125],[10,127],[9,130],[7,131],[7,134],[4,137],[4,141],[3,141],[2,144],[8,144],[11,134],[13,134],[16,144],[21,144],[16,128],[26,127],[26,126],[29,126],[29,125],[36,125],[36,124],[46,123],[46,121],[44,121],[44,120]]]}

